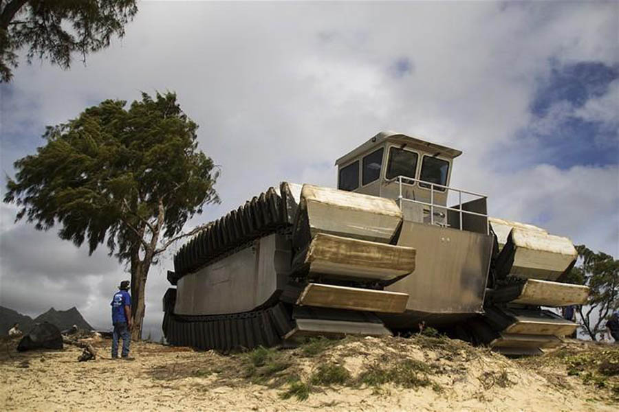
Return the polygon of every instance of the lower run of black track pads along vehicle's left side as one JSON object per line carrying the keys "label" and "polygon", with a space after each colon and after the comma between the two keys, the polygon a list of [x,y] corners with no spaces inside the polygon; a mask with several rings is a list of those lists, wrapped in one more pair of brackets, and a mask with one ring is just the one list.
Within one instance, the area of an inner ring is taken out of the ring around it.
{"label": "lower run of black track pads along vehicle's left side", "polygon": [[171,345],[228,352],[237,348],[272,347],[292,330],[294,321],[284,304],[278,303],[263,310],[213,316],[166,312],[162,327]]}

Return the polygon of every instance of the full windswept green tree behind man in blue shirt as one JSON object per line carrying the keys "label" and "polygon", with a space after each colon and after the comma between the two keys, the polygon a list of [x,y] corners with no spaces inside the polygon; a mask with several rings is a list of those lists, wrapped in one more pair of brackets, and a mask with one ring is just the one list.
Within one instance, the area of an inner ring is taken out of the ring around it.
{"label": "full windswept green tree behind man in blue shirt", "polygon": [[174,93],[157,93],[126,108],[105,100],[75,119],[48,126],[45,145],[14,163],[4,201],[17,220],[93,253],[107,245],[131,271],[133,339],[142,336],[144,290],[151,265],[183,232],[186,221],[218,203],[219,168],[197,148],[197,124]]}

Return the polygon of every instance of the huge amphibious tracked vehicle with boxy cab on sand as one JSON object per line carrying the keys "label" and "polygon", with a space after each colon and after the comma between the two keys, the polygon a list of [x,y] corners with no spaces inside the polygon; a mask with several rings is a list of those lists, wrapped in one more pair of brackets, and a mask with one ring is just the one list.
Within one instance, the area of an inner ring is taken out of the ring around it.
{"label": "huge amphibious tracked vehicle with boxy cab on sand", "polygon": [[173,345],[232,350],[420,323],[505,354],[539,354],[583,304],[572,242],[488,217],[450,186],[459,150],[382,132],[336,161],[338,189],[281,183],[178,251],[164,296]]}

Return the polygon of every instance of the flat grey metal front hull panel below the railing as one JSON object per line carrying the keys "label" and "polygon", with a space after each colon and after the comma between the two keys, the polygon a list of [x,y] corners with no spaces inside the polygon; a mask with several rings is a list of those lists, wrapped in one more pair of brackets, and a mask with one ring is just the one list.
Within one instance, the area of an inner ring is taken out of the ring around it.
{"label": "flat grey metal front hull panel below the railing", "polygon": [[416,249],[415,272],[385,290],[409,294],[406,309],[481,313],[492,237],[404,221],[398,246]]}

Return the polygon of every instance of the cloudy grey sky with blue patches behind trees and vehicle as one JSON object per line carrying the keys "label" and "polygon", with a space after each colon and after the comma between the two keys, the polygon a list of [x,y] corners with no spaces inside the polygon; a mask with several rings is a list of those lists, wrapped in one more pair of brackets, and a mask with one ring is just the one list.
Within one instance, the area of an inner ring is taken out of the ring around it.
{"label": "cloudy grey sky with blue patches behind trees and vehicle", "polygon": [[[335,159],[397,130],[462,150],[451,183],[491,216],[619,257],[619,2],[140,3],[124,38],[76,57],[21,58],[0,84],[0,194],[46,125],[175,91],[221,168],[221,204],[188,228],[280,181],[334,186]],[[15,214],[0,206],[0,305],[110,328],[127,268]],[[149,273],[145,334],[173,253]]]}

